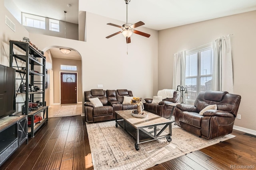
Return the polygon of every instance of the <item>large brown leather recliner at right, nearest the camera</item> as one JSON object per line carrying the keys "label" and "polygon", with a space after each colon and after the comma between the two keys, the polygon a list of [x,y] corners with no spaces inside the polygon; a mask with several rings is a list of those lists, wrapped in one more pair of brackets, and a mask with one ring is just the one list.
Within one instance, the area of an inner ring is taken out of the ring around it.
{"label": "large brown leather recliner at right, nearest the camera", "polygon": [[[205,139],[214,139],[232,133],[241,96],[228,92],[208,91],[198,95],[194,106],[178,104],[175,109],[175,123],[186,131]],[[217,110],[199,112],[209,105]]]}

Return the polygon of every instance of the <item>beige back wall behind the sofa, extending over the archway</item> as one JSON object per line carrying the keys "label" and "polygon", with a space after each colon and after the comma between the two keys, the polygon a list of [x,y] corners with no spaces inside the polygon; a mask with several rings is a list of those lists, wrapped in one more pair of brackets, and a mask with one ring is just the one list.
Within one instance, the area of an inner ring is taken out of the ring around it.
{"label": "beige back wall behind the sofa, extending over the archway", "polygon": [[122,34],[105,37],[119,31],[106,23],[122,25],[121,21],[86,12],[87,42],[30,33],[29,38],[39,49],[51,46],[70,47],[82,56],[82,91],[95,89],[128,89],[134,96],[148,98],[157,92],[158,31],[139,27],[150,38],[132,35],[126,54]]}

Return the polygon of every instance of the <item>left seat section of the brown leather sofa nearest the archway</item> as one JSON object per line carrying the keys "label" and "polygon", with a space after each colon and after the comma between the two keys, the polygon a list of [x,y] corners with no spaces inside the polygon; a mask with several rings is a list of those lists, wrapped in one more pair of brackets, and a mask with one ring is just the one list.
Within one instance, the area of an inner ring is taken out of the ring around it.
{"label": "left seat section of the brown leather sofa nearest the archway", "polygon": [[[94,107],[89,98],[99,98],[103,106]],[[87,122],[112,120],[112,106],[108,105],[106,90],[92,89],[84,92],[84,111]]]}

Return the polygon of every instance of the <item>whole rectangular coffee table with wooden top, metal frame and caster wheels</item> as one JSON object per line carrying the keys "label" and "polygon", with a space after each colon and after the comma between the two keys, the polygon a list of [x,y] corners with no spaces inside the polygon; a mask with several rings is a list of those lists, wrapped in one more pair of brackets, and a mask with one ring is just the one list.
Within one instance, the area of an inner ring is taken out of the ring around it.
{"label": "whole rectangular coffee table with wooden top, metal frame and caster wheels", "polygon": [[[139,118],[132,116],[132,110],[120,110],[116,112],[116,127],[118,125],[135,139],[135,149],[139,150],[139,144],[154,141],[166,137],[172,141],[172,124],[169,119],[160,117],[146,111],[147,117]],[[121,119],[118,119],[120,117]],[[169,132],[164,130],[169,128]]]}

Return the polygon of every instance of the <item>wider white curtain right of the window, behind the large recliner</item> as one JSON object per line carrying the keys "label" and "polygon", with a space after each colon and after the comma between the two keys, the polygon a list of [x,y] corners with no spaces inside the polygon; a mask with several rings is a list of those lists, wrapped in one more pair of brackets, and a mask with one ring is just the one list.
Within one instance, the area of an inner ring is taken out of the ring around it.
{"label": "wider white curtain right of the window, behind the large recliner", "polygon": [[233,93],[233,68],[230,36],[231,35],[222,36],[212,42],[212,90]]}

